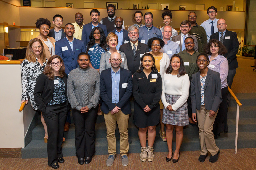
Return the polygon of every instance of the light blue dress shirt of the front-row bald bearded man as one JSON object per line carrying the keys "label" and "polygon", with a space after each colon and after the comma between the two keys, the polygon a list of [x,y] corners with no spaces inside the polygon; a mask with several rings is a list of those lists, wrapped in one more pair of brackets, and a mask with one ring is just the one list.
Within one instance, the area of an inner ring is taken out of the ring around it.
{"label": "light blue dress shirt of the front-row bald bearded man", "polygon": [[111,68],[111,78],[112,78],[112,103],[116,104],[119,102],[120,68],[116,73]]}

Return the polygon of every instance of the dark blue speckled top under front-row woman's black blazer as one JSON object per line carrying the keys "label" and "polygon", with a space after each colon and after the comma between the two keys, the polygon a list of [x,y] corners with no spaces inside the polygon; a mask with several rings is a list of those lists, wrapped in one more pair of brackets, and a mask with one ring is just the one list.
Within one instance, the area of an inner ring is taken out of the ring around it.
{"label": "dark blue speckled top under front-row woman's black blazer", "polygon": [[67,97],[65,95],[65,83],[62,78],[54,76],[54,91],[52,100],[47,105],[55,105],[64,103],[67,101]]}

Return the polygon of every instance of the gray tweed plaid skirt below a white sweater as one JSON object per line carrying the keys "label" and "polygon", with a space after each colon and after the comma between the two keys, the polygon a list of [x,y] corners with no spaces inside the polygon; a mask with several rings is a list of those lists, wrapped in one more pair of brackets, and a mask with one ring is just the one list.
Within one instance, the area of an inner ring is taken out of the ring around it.
{"label": "gray tweed plaid skirt below a white sweater", "polygon": [[[171,105],[174,104],[181,95],[168,95],[165,94],[166,102]],[[176,111],[169,111],[164,108],[163,120],[164,124],[171,124],[175,126],[186,126],[188,125],[188,103],[187,101]]]}

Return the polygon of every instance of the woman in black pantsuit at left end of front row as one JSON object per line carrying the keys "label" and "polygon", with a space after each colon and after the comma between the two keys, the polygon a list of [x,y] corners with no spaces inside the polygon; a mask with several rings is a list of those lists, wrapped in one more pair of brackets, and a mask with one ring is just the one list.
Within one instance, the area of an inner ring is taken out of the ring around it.
{"label": "woman in black pantsuit at left end of front row", "polygon": [[67,117],[67,75],[63,60],[58,55],[49,58],[44,72],[38,76],[34,89],[35,103],[48,127],[48,165],[59,168],[63,163],[62,139]]}

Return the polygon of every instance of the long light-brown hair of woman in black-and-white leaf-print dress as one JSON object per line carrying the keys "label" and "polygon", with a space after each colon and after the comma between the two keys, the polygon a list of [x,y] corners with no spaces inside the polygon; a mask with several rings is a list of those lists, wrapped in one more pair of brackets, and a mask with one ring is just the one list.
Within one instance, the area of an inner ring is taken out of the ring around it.
{"label": "long light-brown hair of woman in black-and-white leaf-print dress", "polygon": [[36,57],[32,51],[32,44],[35,43],[35,42],[39,42],[40,45],[42,46],[42,51],[41,51],[41,54],[40,54],[40,59],[42,62],[46,62],[46,55],[44,53],[44,46],[43,46],[43,43],[40,39],[37,39],[37,38],[34,38],[34,39],[31,39],[28,43],[28,46],[27,46],[27,50],[26,50],[26,57],[25,59],[28,60],[28,62],[33,62],[35,63],[36,62]]}

